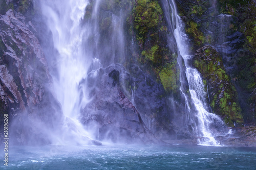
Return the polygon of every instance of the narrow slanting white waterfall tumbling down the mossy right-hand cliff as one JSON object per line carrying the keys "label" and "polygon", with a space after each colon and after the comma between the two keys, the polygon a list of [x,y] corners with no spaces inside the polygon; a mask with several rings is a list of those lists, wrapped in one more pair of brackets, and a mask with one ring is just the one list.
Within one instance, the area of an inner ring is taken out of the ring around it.
{"label": "narrow slanting white waterfall tumbling down the mossy right-hand cliff", "polygon": [[[176,5],[174,0],[169,1],[170,8],[172,9],[172,23],[169,22],[169,27],[173,28],[174,36],[180,52],[180,56],[184,59],[185,65],[185,74],[189,85],[189,92],[191,95],[191,102],[195,106],[196,114],[193,115],[193,112],[190,109],[187,109],[187,118],[193,126],[193,132],[196,136],[199,137],[198,142],[202,145],[220,145],[218,141],[215,140],[214,136],[223,135],[225,125],[221,118],[216,114],[209,113],[208,104],[205,102],[206,92],[204,89],[204,84],[201,78],[200,73],[196,68],[191,68],[188,61],[191,59],[188,50],[187,36],[184,32],[184,24],[180,16],[177,13]],[[180,67],[181,62],[178,62]],[[181,68],[182,70],[182,68]],[[181,74],[182,75],[182,74]],[[181,77],[181,93],[185,98],[185,106],[188,106],[188,99],[186,94],[184,94],[184,78]],[[217,129],[218,127],[218,129]],[[219,128],[221,127],[221,128]],[[222,128],[223,127],[223,128]]]}

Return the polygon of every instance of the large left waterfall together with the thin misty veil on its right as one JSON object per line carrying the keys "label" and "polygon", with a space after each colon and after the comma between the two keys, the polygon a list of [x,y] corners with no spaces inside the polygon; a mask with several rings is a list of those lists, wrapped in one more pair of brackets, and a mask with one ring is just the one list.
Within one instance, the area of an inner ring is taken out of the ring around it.
{"label": "large left waterfall together with the thin misty veil on its right", "polygon": [[[62,106],[63,126],[56,141],[87,144],[99,138],[97,126],[84,130],[80,112],[90,102],[87,75],[124,59],[125,12],[104,11],[104,1],[41,1],[58,54],[52,72],[54,91]],[[103,11],[103,12],[102,12]],[[88,14],[89,13],[89,14]],[[54,58],[54,57],[53,57]],[[56,143],[53,141],[53,143]]]}

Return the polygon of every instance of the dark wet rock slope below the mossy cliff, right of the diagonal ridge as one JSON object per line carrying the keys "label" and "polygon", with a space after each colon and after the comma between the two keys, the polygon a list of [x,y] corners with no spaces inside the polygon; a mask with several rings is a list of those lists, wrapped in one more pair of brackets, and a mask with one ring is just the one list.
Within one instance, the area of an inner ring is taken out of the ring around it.
{"label": "dark wet rock slope below the mossy cliff, right of the diagonal ridge", "polygon": [[171,133],[172,117],[163,86],[135,64],[130,68],[130,74],[125,72],[121,80],[125,94],[133,101],[146,126],[153,132],[164,130]]}

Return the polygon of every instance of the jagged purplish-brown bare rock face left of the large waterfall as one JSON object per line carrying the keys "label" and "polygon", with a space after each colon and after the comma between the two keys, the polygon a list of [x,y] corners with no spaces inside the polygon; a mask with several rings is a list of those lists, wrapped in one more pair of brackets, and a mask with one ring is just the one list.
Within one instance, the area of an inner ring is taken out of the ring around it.
{"label": "jagged purplish-brown bare rock face left of the large waterfall", "polygon": [[[1,115],[8,113],[10,121],[26,112],[51,125],[57,119],[52,113],[61,109],[49,89],[52,78],[40,43],[30,31],[34,27],[25,19],[12,9],[0,15]],[[20,118],[15,124],[25,122],[26,119]],[[13,134],[17,135],[18,143],[26,144],[29,138],[20,136],[29,135],[33,128],[28,131],[23,128]]]}

